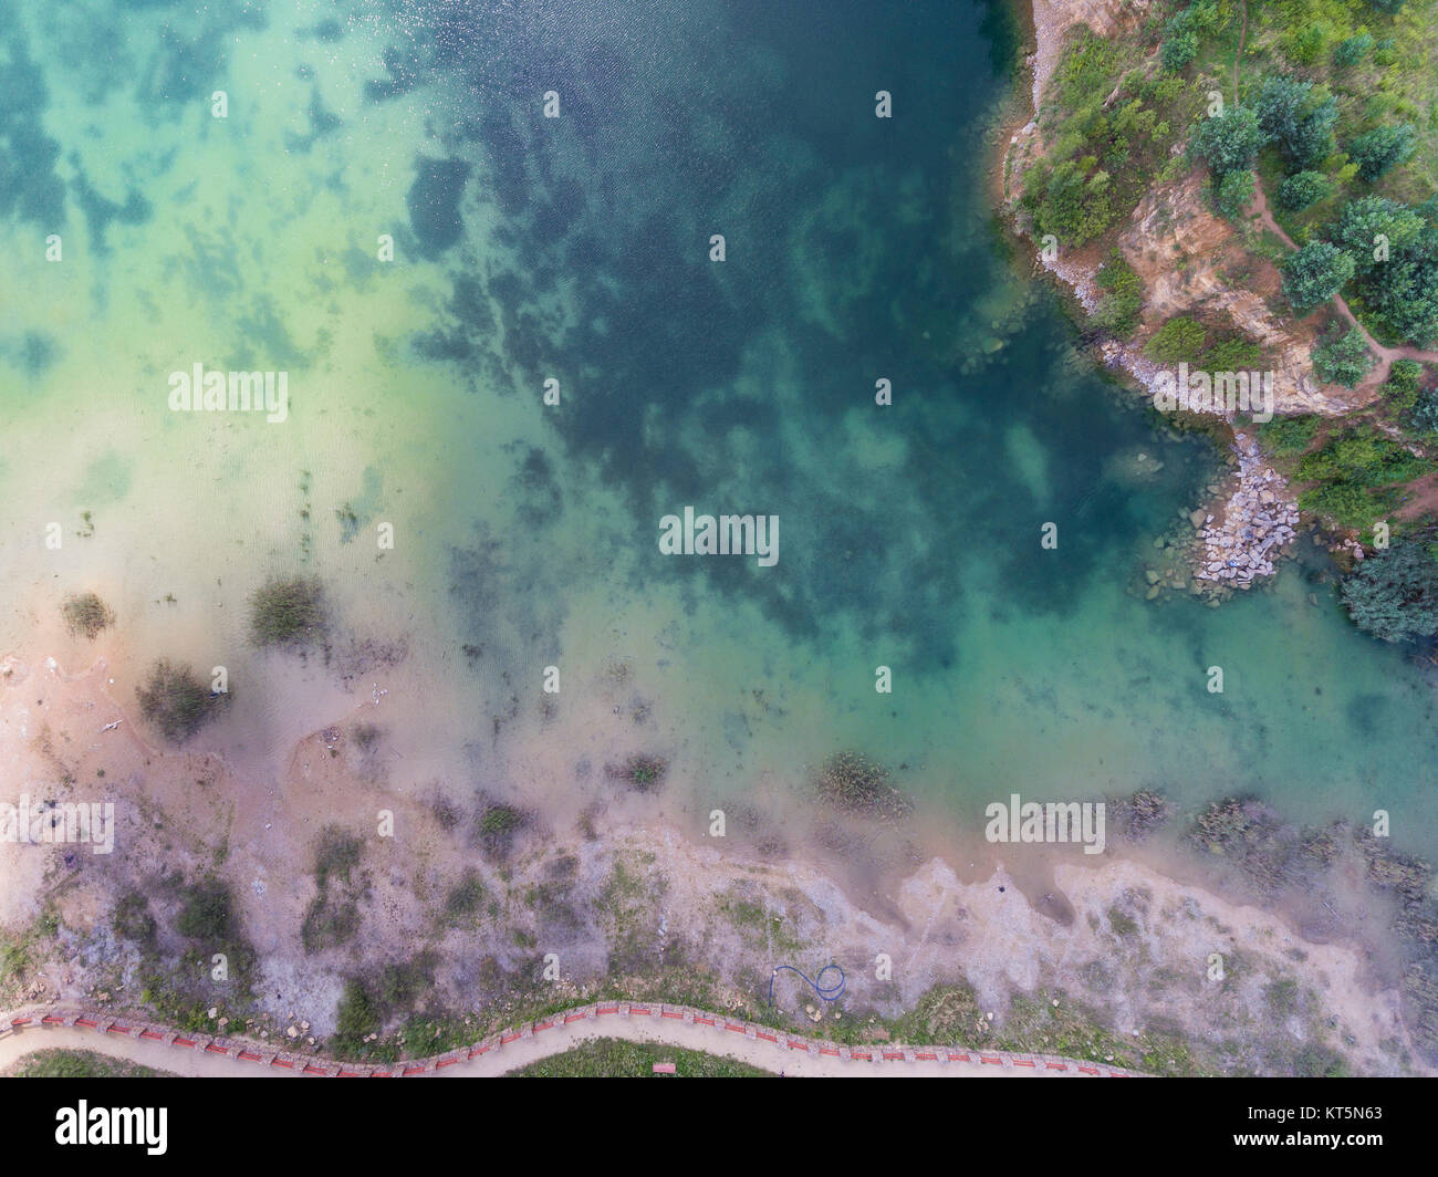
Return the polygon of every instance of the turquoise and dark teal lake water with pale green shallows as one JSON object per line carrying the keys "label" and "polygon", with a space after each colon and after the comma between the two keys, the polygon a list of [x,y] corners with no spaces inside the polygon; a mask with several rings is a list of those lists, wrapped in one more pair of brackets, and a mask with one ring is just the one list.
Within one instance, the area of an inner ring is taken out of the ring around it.
{"label": "turquoise and dark teal lake water with pale green shallows", "polygon": [[[121,689],[230,666],[204,740],[259,777],[383,688],[395,789],[582,796],[647,751],[703,812],[856,748],[975,827],[1149,786],[1431,846],[1432,686],[1322,560],[1133,591],[1214,455],[1005,255],[1017,43],[972,0],[7,4],[0,645],[99,588]],[[196,363],[286,371],[288,420],[171,412]],[[661,554],[686,505],[777,515],[778,563]],[[328,663],[244,643],[296,571]]]}

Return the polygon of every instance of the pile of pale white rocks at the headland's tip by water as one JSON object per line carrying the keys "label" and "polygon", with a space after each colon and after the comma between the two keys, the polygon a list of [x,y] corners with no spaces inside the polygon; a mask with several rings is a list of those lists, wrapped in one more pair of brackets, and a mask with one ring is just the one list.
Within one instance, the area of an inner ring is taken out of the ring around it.
{"label": "pile of pale white rocks at the headland's tip by water", "polygon": [[1224,518],[1195,511],[1194,578],[1214,588],[1247,588],[1273,576],[1273,561],[1297,538],[1299,506],[1284,479],[1268,466],[1251,437],[1235,433],[1237,486],[1224,505]]}

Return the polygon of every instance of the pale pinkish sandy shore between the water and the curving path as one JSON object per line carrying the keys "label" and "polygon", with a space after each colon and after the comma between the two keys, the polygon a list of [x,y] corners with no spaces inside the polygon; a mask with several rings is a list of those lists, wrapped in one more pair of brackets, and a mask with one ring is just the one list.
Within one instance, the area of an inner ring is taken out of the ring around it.
{"label": "pale pinkish sandy shore between the water and the curving path", "polygon": [[[574,994],[615,963],[641,976],[682,961],[712,977],[736,1010],[762,1000],[775,964],[815,974],[838,963],[850,1016],[896,1016],[936,986],[965,986],[978,1017],[959,1029],[979,1043],[1004,1033],[1015,996],[1037,994],[1055,1009],[1100,1010],[1130,1037],[1163,1026],[1201,1042],[1277,1033],[1301,1043],[1334,1026],[1332,1043],[1360,1071],[1396,1073],[1414,1056],[1399,996],[1378,981],[1365,947],[1304,938],[1273,911],[1112,849],[1097,865],[1077,846],[968,862],[968,852],[923,853],[897,832],[903,853],[879,862],[866,889],[863,875],[846,879],[834,863],[860,863],[876,852],[873,837],[840,840],[827,860],[794,839],[787,856],[771,858],[683,832],[664,816],[674,799],[636,799],[614,786],[611,803],[591,807],[580,829],[536,814],[509,853],[476,866],[473,843],[421,801],[355,778],[344,755],[325,754],[324,732],[302,741],[272,790],[201,751],[152,747],[131,709],[106,695],[104,660],[75,676],[45,656],[12,656],[0,668],[10,669],[0,678],[7,791],[17,781],[45,783],[59,800],[102,791],[118,814],[111,856],[0,845],[0,924],[14,934],[50,904],[63,928],[22,1000],[132,1006],[139,960],[112,930],[116,899],[150,895],[165,925],[175,904],[161,881],[213,872],[229,883],[260,957],[262,1020],[276,1036],[303,1026],[301,1045],[334,1027],[345,976],[429,944],[439,965],[426,1001],[436,1009],[470,1007],[485,989],[479,977],[502,989],[506,974],[532,977],[535,960],[551,953]],[[306,953],[299,930],[315,896],[305,872],[316,832],[383,810],[404,833],[364,839],[362,934]],[[838,826],[825,829],[843,839]],[[449,928],[439,912],[466,869],[477,871],[496,915]],[[538,906],[536,892],[545,896]],[[1211,976],[1215,954],[1228,961],[1222,981]],[[1303,994],[1277,1022],[1274,986]],[[779,996],[794,1009],[807,1001],[798,984]]]}

